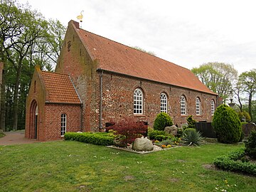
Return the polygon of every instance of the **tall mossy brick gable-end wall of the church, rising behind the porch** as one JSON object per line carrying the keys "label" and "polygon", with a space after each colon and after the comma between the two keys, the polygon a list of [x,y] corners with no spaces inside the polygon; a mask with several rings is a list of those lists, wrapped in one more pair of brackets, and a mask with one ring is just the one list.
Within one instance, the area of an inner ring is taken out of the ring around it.
{"label": "tall mossy brick gable-end wall of the church, rising behind the porch", "polygon": [[82,130],[90,131],[97,120],[95,78],[97,60],[92,60],[70,21],[63,48],[55,68],[56,73],[69,74],[82,100]]}

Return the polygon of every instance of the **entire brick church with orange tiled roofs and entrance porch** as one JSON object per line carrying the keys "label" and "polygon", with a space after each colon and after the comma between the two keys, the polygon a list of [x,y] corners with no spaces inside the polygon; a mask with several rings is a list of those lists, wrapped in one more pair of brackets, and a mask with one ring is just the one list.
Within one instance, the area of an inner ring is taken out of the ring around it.
{"label": "entire brick church with orange tiled roofs and entrance porch", "polygon": [[26,137],[100,131],[124,117],[152,127],[159,112],[174,124],[192,114],[211,122],[218,95],[190,70],[79,28],[70,21],[55,73],[36,66],[26,100]]}

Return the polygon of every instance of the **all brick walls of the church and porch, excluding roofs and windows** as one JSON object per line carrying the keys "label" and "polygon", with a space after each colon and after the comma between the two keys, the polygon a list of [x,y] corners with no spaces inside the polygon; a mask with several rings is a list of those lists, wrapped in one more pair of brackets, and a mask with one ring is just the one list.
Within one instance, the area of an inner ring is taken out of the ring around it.
{"label": "all brick walls of the church and porch, excluding roofs and windows", "polygon": [[[79,30],[78,26],[73,26],[73,23],[69,23],[55,73],[70,75],[82,101],[82,112],[80,105],[46,103],[46,92],[43,90],[40,77],[35,72],[26,103],[27,138],[33,138],[33,121],[31,119],[33,119],[36,105],[38,105],[39,110],[38,140],[44,141],[61,138],[61,113],[67,114],[67,131],[75,132],[82,130],[85,132],[99,130],[101,72],[97,68],[100,60],[92,58],[76,30]],[[34,91],[34,85],[37,87],[36,91]],[[137,87],[141,88],[144,94],[144,112],[142,115],[134,115],[133,113],[133,94]],[[174,124],[180,126],[186,123],[187,116],[181,116],[180,114],[181,95],[186,97],[188,115],[192,114],[193,118],[197,121],[211,121],[210,101],[214,100],[216,104],[218,102],[216,95],[103,70],[103,127],[105,127],[106,122],[116,122],[124,117],[142,119],[149,122],[149,126],[152,127],[156,114],[160,112],[160,95],[162,92],[166,93],[168,97],[168,114],[173,119]],[[200,116],[196,115],[196,97],[199,97],[201,100],[202,114]]]}

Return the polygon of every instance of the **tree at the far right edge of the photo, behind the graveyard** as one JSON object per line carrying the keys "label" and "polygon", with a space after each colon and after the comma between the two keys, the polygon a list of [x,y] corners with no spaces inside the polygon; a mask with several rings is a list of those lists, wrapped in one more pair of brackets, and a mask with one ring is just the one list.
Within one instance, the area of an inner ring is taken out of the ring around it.
{"label": "tree at the far right edge of the photo, behind the graveyard", "polygon": [[242,91],[247,93],[248,112],[250,114],[250,117],[253,119],[252,98],[256,93],[256,69],[241,73],[239,75],[238,82],[240,82],[240,85],[242,86]]}

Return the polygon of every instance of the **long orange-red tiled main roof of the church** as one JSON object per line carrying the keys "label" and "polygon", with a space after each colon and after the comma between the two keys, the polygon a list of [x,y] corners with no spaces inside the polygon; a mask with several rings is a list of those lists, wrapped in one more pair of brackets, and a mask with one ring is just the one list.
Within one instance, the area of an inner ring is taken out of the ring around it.
{"label": "long orange-red tiled main roof of the church", "polygon": [[102,70],[217,95],[186,68],[94,33],[78,28],[75,30],[92,55],[92,59],[100,61],[98,68]]}

